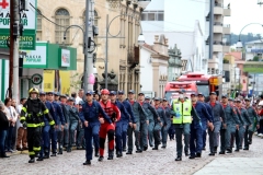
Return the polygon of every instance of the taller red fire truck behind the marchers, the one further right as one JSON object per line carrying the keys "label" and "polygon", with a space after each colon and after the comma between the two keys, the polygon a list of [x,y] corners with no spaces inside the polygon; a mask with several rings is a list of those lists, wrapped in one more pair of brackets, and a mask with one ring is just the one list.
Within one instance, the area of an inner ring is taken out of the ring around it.
{"label": "taller red fire truck behind the marchers, the one further right", "polygon": [[216,92],[220,98],[222,89],[222,78],[221,75],[204,74],[198,72],[188,72],[181,75],[178,81],[195,81],[197,85],[198,93],[203,93],[206,100],[210,92]]}

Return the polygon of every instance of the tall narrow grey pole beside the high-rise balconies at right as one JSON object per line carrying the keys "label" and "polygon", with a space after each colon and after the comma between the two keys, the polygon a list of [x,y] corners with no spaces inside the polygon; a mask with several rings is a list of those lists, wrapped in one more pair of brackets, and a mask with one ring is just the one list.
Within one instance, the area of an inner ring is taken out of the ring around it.
{"label": "tall narrow grey pole beside the high-rise balconies at right", "polygon": [[209,59],[213,59],[213,46],[214,46],[214,8],[215,8],[215,0],[210,0],[210,15],[209,15]]}

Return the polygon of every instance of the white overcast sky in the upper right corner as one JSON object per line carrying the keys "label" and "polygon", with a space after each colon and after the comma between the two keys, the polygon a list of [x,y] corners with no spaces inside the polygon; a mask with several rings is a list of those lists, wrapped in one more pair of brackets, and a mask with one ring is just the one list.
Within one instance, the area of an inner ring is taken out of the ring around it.
{"label": "white overcast sky in the upper right corner", "polygon": [[[225,24],[231,24],[231,32],[239,34],[243,26],[249,23],[261,23],[263,24],[263,5],[258,4],[258,0],[225,0],[224,3],[227,5],[230,2],[231,16],[224,19]],[[261,25],[249,25],[242,34],[262,34],[263,27]]]}

